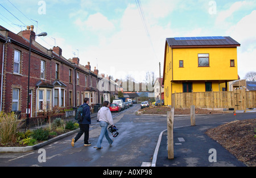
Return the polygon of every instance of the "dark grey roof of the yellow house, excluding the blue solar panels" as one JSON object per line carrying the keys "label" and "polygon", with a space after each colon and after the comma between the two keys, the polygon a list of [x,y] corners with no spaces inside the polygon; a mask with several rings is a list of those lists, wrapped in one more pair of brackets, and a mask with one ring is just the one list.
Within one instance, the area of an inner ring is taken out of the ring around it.
{"label": "dark grey roof of the yellow house, excluding the blue solar panels", "polygon": [[223,36],[224,39],[212,40],[175,40],[175,38],[167,38],[168,45],[172,47],[195,47],[195,46],[240,46],[240,43],[232,39],[230,36]]}

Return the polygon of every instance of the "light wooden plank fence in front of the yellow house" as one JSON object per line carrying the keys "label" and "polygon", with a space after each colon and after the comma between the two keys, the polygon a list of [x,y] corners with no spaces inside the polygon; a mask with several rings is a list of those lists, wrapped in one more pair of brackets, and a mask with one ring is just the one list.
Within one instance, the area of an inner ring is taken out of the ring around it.
{"label": "light wooden plank fence in front of the yellow house", "polygon": [[246,110],[256,107],[256,91],[246,92],[237,89],[233,92],[191,92],[172,94],[172,106],[175,108],[190,108],[195,105],[200,108],[233,108]]}

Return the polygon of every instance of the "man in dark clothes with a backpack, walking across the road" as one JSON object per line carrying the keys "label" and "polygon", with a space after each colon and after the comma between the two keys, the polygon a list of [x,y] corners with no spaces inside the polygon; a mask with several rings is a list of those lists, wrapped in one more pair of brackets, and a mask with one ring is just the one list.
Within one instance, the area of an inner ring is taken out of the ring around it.
{"label": "man in dark clothes with a backpack, walking across the road", "polygon": [[[84,98],[84,104],[80,107],[83,107],[81,112],[82,119],[77,121],[79,123],[80,131],[77,133],[76,137],[72,139],[72,147],[75,145],[75,142],[84,134],[84,146],[90,146],[91,143],[88,142],[89,139],[89,125],[90,125],[90,106],[89,98]],[[79,109],[78,109],[79,110]],[[77,111],[78,112],[78,111]]]}

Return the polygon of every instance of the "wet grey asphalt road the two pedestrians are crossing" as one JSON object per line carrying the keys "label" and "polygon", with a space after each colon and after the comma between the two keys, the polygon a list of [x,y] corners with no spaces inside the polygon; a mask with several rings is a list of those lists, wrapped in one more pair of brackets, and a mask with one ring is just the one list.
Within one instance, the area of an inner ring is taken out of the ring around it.
{"label": "wet grey asphalt road the two pedestrians are crossing", "polygon": [[[113,146],[109,146],[104,138],[102,150],[93,148],[96,146],[101,130],[96,118],[93,118],[89,135],[89,142],[92,146],[84,146],[82,135],[72,147],[71,139],[76,136],[73,134],[42,147],[45,150],[45,162],[42,162],[44,152],[41,150],[0,153],[0,166],[141,167],[144,163],[151,163],[159,134],[167,129],[167,121],[165,116],[136,115],[138,109],[137,104],[120,113],[113,113],[114,123],[119,129],[119,135],[114,138]],[[234,121],[234,119],[253,117],[255,118],[255,113],[237,114],[236,118],[233,114],[197,115],[196,125],[216,122],[222,124]],[[174,123],[174,127],[189,126],[190,117],[175,117]],[[113,138],[112,135],[110,138]]]}

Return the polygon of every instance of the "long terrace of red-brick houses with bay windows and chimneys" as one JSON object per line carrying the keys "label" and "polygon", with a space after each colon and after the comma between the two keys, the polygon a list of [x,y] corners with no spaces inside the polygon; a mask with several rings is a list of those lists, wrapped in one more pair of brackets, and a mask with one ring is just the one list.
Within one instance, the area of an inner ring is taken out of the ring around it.
{"label": "long terrace of red-brick houses with bay windows and chimneys", "polygon": [[78,57],[65,59],[60,47],[47,49],[36,42],[35,36],[34,26],[27,26],[18,34],[0,26],[1,111],[19,110],[24,116],[29,102],[30,117],[35,117],[53,107],[79,106],[84,97],[90,98],[92,107],[118,97],[118,84],[96,68],[92,71],[89,62],[84,66]]}

